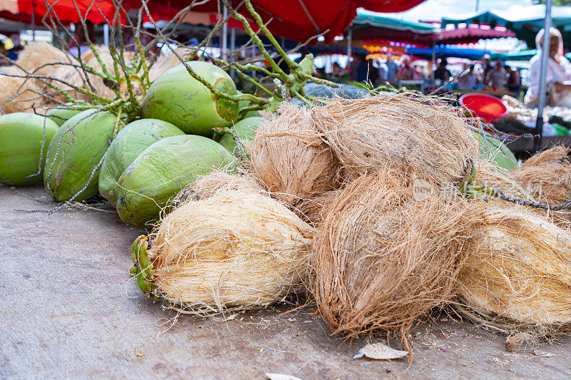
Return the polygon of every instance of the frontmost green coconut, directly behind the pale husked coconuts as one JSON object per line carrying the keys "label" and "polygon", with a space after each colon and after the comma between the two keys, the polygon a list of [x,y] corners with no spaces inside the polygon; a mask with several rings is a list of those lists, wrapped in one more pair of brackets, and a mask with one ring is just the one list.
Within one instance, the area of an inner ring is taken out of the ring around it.
{"label": "frontmost green coconut, directly behind the pale husked coconuts", "polygon": [[196,178],[235,165],[229,150],[208,138],[183,135],[149,146],[118,180],[117,212],[121,219],[150,229],[163,207]]}

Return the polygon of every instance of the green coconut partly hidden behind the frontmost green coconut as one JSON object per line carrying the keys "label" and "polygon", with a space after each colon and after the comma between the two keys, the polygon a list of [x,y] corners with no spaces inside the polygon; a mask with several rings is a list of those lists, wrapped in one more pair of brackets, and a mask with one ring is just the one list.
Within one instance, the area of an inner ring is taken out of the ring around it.
{"label": "green coconut partly hidden behind the frontmost green coconut", "polygon": [[184,132],[171,123],[157,119],[141,119],[126,125],[113,140],[99,173],[99,193],[114,206],[117,181],[139,154],[158,140]]}

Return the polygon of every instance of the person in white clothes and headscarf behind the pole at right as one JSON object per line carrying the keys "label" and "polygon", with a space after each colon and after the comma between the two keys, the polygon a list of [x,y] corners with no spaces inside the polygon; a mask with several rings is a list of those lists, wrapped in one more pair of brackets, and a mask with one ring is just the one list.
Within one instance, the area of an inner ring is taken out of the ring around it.
{"label": "person in white clothes and headscarf behind the pole at right", "polygon": [[[540,94],[541,49],[544,30],[535,37],[537,54],[531,58],[530,87],[525,94],[526,106],[537,107]],[[560,31],[551,28],[549,59],[547,59],[547,91],[551,106],[571,107],[571,64],[563,56],[563,38]]]}

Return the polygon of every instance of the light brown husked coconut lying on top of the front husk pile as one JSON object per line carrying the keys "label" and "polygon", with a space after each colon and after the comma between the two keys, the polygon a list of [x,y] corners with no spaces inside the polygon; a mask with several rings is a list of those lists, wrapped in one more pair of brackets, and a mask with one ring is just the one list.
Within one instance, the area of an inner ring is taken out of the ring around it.
{"label": "light brown husked coconut lying on top of the front husk pile", "polygon": [[391,165],[439,184],[460,183],[478,157],[463,115],[430,97],[335,99],[313,108],[312,120],[353,178]]}

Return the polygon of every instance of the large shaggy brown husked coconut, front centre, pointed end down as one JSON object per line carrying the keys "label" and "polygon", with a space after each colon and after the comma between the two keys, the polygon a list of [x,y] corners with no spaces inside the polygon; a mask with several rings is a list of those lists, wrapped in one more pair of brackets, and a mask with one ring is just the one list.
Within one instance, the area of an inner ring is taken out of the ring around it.
{"label": "large shaggy brown husked coconut, front centre, pointed end down", "polygon": [[[483,202],[415,200],[410,173],[381,168],[335,197],[315,236],[312,291],[333,334],[400,334],[455,294]],[[425,182],[425,184],[428,182]]]}

